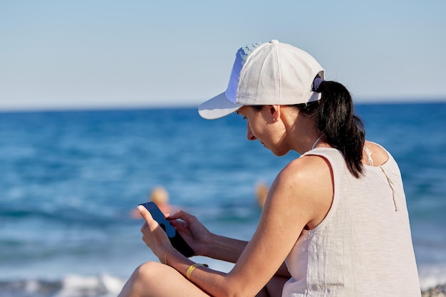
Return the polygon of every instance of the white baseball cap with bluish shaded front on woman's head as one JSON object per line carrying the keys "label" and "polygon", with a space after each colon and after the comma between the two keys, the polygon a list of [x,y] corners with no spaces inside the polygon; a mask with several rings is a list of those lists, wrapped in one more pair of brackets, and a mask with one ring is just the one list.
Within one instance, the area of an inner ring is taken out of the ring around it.
{"label": "white baseball cap with bluish shaded front on woman's head", "polygon": [[312,90],[321,65],[306,51],[272,40],[236,53],[226,91],[199,105],[202,118],[222,118],[244,105],[294,105],[321,98]]}

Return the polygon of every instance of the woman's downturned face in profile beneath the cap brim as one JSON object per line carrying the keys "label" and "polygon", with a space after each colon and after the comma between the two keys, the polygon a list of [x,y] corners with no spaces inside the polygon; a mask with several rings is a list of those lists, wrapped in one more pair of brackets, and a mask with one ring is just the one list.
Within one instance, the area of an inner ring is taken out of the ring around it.
{"label": "woman's downturned face in profile beneath the cap brim", "polygon": [[247,120],[248,140],[259,140],[264,147],[274,155],[281,156],[289,152],[284,150],[282,143],[283,131],[280,130],[280,123],[274,113],[274,107],[270,105],[262,106],[261,110],[256,110],[251,106],[240,108],[237,113]]}

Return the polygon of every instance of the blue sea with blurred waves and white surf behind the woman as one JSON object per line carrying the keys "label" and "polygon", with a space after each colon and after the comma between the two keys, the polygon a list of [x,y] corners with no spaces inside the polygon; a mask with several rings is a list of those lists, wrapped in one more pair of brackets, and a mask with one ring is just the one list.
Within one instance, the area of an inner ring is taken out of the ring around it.
{"label": "blue sea with blurred waves and white surf behind the woman", "polygon": [[[356,114],[400,166],[422,288],[445,284],[446,101]],[[247,140],[239,115],[204,120],[195,107],[0,113],[0,296],[116,296],[157,260],[130,215],[157,186],[210,231],[249,240],[256,184],[296,157]]]}

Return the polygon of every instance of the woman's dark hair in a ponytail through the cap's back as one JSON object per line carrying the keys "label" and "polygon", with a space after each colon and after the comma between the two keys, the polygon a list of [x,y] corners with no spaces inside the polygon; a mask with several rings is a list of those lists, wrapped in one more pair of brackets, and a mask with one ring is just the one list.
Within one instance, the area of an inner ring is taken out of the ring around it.
{"label": "woman's dark hair in a ponytail through the cap's back", "polygon": [[342,152],[348,170],[359,178],[363,173],[365,129],[361,118],[353,114],[351,95],[336,81],[324,80],[316,91],[321,93],[321,100],[294,106],[304,115],[316,116],[316,130]]}

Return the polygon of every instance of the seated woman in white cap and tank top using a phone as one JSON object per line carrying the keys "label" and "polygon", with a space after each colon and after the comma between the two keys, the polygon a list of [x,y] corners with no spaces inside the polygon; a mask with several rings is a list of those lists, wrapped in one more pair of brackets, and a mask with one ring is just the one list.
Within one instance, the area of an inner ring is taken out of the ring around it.
{"label": "seated woman in white cap and tank top using a phone", "polygon": [[301,157],[277,175],[249,242],[182,211],[170,217],[196,255],[235,263],[229,273],[175,251],[140,209],[142,239],[161,263],[138,267],[121,296],[420,296],[398,165],[365,141],[348,90],[323,78],[312,56],[286,43],[237,51],[227,90],[200,115],[237,112],[249,140]]}

